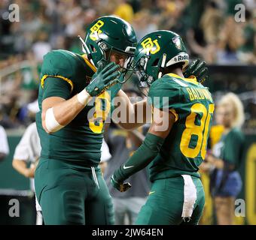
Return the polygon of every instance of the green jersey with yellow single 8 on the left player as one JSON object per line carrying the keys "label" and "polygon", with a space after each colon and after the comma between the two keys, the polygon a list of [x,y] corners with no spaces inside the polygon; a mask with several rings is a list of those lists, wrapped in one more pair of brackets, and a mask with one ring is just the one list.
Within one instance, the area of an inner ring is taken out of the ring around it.
{"label": "green jersey with yellow single 8 on the left player", "polygon": [[85,167],[98,165],[104,122],[111,110],[111,99],[120,90],[119,84],[93,98],[81,113],[55,133],[46,133],[41,124],[41,104],[45,98],[72,98],[90,83],[95,71],[84,55],[53,50],[44,56],[38,95],[40,112],[36,115],[41,157],[68,160]]}

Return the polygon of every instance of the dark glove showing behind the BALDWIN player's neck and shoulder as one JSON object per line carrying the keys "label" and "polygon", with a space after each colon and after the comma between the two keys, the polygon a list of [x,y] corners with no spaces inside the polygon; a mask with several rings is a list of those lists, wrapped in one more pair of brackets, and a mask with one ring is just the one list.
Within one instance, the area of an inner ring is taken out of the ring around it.
{"label": "dark glove showing behind the BALDWIN player's neck and shoulder", "polygon": [[199,83],[203,83],[209,79],[208,68],[206,62],[200,61],[200,59],[194,60],[183,72],[184,77],[189,78],[191,76],[197,77]]}

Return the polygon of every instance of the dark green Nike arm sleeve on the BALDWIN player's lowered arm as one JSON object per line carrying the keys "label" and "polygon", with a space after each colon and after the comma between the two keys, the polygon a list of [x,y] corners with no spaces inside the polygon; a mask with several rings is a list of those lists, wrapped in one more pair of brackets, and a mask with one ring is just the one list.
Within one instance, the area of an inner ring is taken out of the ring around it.
{"label": "dark green Nike arm sleeve on the BALDWIN player's lowered arm", "polygon": [[130,175],[139,172],[148,166],[157,156],[163,145],[164,139],[152,133],[147,133],[142,145],[134,152],[134,154],[114,172],[114,180],[123,182]]}

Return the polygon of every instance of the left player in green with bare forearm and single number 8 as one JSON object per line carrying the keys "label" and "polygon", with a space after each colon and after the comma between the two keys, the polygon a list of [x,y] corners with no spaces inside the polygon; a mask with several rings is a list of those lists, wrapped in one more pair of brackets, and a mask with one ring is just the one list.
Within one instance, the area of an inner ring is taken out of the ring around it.
{"label": "left player in green with bare forearm and single number 8", "polygon": [[114,83],[126,74],[135,45],[129,23],[100,17],[83,40],[87,55],[53,50],[44,56],[35,191],[45,224],[114,223],[111,196],[98,167],[102,131],[111,98],[121,86]]}

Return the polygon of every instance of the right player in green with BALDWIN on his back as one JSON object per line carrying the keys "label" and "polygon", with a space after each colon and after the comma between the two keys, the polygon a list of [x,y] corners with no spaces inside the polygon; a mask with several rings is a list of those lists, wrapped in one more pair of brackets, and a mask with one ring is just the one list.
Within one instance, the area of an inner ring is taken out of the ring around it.
{"label": "right player in green with BALDWIN on his back", "polygon": [[182,71],[189,56],[181,37],[154,31],[139,41],[135,53],[139,80],[150,86],[152,122],[139,149],[114,172],[111,183],[123,182],[150,164],[153,182],[137,224],[197,224],[205,195],[198,166],[206,157],[215,105],[209,90]]}

